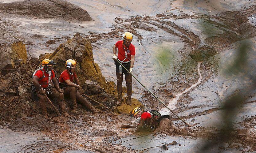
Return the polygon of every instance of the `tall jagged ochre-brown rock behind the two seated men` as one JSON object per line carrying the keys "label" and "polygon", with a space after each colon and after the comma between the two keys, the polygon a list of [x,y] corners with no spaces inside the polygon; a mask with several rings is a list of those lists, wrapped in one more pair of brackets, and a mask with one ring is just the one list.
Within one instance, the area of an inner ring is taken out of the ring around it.
{"label": "tall jagged ochre-brown rock behind the two seated men", "polygon": [[[40,55],[40,57],[42,56]],[[45,58],[53,60],[56,63],[54,70],[58,76],[66,69],[66,60],[74,59],[77,61],[76,73],[81,85],[85,84],[86,80],[91,80],[100,86],[107,87],[107,83],[100,72],[98,64],[94,63],[93,47],[89,39],[84,38],[78,33],[72,39],[62,43],[52,54],[46,54],[40,60]]]}

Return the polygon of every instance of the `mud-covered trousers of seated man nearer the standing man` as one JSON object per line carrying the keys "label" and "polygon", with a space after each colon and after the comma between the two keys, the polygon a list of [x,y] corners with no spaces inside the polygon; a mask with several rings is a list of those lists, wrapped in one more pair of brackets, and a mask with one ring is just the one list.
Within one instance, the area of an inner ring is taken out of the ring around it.
{"label": "mud-covered trousers of seated man nearer the standing man", "polygon": [[77,88],[75,87],[66,87],[64,89],[64,95],[65,96],[69,96],[71,101],[72,101],[72,105],[73,107],[77,107],[77,101],[79,103],[81,103],[83,106],[85,106],[86,108],[88,108],[91,112],[95,111],[95,108],[93,107],[93,105],[82,95],[80,95],[80,93],[78,92]]}

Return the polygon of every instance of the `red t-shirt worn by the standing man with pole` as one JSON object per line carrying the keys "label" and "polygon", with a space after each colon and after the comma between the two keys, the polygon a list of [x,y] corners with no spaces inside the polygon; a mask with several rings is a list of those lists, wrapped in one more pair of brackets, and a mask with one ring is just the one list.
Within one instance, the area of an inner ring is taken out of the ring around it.
{"label": "red t-shirt worn by the standing man with pole", "polygon": [[125,51],[127,52],[127,58],[129,59],[125,59],[123,62],[127,62],[131,60],[131,55],[135,55],[135,46],[131,43],[129,45],[129,47],[126,47],[125,45],[123,45],[123,40],[119,40],[116,42],[116,47],[118,48],[118,55],[117,58],[120,61],[123,61],[125,59]]}

